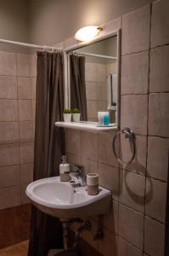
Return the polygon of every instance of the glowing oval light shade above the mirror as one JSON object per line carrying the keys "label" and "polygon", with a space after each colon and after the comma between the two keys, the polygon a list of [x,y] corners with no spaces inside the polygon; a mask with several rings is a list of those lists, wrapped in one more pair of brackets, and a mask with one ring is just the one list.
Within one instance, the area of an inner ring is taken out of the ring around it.
{"label": "glowing oval light shade above the mirror", "polygon": [[75,38],[78,41],[88,42],[95,38],[102,30],[103,28],[99,26],[84,26],[76,32]]}

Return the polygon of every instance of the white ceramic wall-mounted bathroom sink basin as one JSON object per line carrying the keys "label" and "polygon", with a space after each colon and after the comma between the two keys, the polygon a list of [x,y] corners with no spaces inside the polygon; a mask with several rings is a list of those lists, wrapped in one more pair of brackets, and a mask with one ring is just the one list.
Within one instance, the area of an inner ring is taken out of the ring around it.
{"label": "white ceramic wall-mounted bathroom sink basin", "polygon": [[87,187],[72,187],[59,177],[42,178],[25,190],[32,204],[57,218],[87,218],[109,211],[111,192],[99,187],[98,195],[88,195]]}

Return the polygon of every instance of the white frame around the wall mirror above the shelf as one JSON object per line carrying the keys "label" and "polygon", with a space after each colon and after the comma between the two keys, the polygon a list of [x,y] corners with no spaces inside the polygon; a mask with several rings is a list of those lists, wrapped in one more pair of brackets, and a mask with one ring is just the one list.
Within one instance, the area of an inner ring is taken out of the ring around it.
{"label": "white frame around the wall mirror above the shelf", "polygon": [[106,33],[103,36],[93,39],[90,42],[84,42],[81,44],[72,45],[71,47],[64,49],[64,69],[65,69],[65,108],[70,108],[70,58],[68,52],[76,49],[80,49],[89,44],[102,41],[106,38],[117,37],[117,130],[120,129],[120,113],[121,113],[121,29],[115,30],[110,33]]}

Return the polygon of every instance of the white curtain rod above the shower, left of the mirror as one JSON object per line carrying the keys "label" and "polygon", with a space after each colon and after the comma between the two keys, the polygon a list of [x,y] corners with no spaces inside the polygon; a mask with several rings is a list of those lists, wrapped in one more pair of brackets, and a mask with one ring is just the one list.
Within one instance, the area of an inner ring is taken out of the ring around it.
{"label": "white curtain rod above the shower, left of the mirror", "polygon": [[0,43],[20,45],[20,46],[30,47],[30,48],[35,48],[35,49],[49,49],[49,50],[60,50],[60,49],[62,49],[62,48],[55,48],[53,46],[37,45],[37,44],[26,44],[26,43],[20,43],[20,42],[16,42],[16,41],[5,40],[5,39],[0,39]]}

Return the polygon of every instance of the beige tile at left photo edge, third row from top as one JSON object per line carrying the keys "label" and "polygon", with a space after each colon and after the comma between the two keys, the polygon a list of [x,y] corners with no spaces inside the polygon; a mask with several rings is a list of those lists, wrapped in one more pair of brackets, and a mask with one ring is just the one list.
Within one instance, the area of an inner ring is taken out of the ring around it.
{"label": "beige tile at left photo edge, third row from top", "polygon": [[16,100],[0,100],[0,121],[17,121],[18,103]]}

